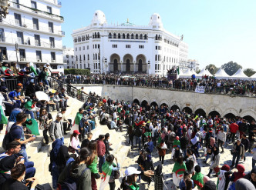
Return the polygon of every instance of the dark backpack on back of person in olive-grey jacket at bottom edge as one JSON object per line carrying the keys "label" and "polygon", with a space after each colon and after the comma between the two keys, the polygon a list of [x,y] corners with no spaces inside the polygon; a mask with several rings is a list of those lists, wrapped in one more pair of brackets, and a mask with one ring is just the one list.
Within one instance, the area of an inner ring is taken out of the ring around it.
{"label": "dark backpack on back of person in olive-grey jacket at bottom edge", "polygon": [[70,162],[69,165],[67,166],[68,172],[66,172],[66,180],[65,180],[66,182],[64,182],[62,185],[60,185],[60,184],[58,185],[59,190],[76,190],[76,189],[78,189],[78,182],[80,181],[80,178],[82,178],[82,176],[84,175],[86,170],[89,169],[89,168],[84,169],[78,179],[71,178],[71,176],[69,176],[69,171],[70,171],[70,167],[71,167],[72,163],[73,162]]}

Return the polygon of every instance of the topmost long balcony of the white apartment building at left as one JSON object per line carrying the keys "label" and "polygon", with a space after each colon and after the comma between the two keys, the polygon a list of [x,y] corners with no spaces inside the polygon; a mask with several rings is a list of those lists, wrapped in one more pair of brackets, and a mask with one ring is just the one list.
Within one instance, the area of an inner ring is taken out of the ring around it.
{"label": "topmost long balcony of the white apartment building at left", "polygon": [[48,13],[48,12],[43,12],[43,11],[42,12],[41,11],[34,11],[34,10],[32,10],[30,8],[26,8],[22,5],[17,5],[14,2],[10,2],[10,7],[9,8],[19,10],[21,12],[29,13],[31,15],[42,16],[44,18],[52,19],[52,20],[55,20],[55,21],[64,22],[64,18],[60,15],[54,15],[54,14],[51,14],[51,13]]}

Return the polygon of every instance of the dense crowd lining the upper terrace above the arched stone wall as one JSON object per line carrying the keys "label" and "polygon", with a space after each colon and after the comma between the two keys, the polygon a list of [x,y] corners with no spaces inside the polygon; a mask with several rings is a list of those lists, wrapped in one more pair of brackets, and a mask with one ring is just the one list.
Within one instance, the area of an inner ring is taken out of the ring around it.
{"label": "dense crowd lining the upper terrace above the arched stone wall", "polygon": [[133,85],[150,88],[169,88],[176,90],[195,91],[197,85],[205,87],[205,93],[228,95],[253,95],[256,91],[255,81],[217,79],[203,75],[201,78],[177,78],[151,75],[62,75],[69,84],[101,84],[101,85]]}

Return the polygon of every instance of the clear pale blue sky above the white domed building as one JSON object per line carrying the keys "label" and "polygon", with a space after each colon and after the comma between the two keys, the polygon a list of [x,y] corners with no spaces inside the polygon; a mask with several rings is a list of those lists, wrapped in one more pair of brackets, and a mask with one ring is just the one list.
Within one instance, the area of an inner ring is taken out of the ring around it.
{"label": "clear pale blue sky above the white domed building", "polygon": [[255,0],[62,0],[62,44],[73,47],[72,30],[90,25],[96,10],[105,13],[108,23],[129,18],[135,25],[148,25],[158,13],[163,28],[184,35],[188,58],[197,59],[200,68],[233,61],[256,70],[255,8]]}

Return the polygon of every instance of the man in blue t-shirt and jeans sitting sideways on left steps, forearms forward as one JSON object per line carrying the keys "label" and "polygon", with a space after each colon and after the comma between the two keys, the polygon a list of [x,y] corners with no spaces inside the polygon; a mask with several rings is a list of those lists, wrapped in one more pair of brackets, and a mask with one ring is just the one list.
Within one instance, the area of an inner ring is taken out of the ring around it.
{"label": "man in blue t-shirt and jeans sitting sideways on left steps, forearms forward", "polygon": [[25,144],[27,142],[35,141],[35,137],[33,135],[29,135],[28,139],[25,139],[24,130],[22,128],[22,124],[27,120],[27,116],[25,113],[20,112],[16,117],[15,124],[12,125],[10,129],[10,137],[11,141],[17,141],[21,144],[21,151],[23,157],[25,158],[25,162],[29,162],[29,158],[26,152]]}

